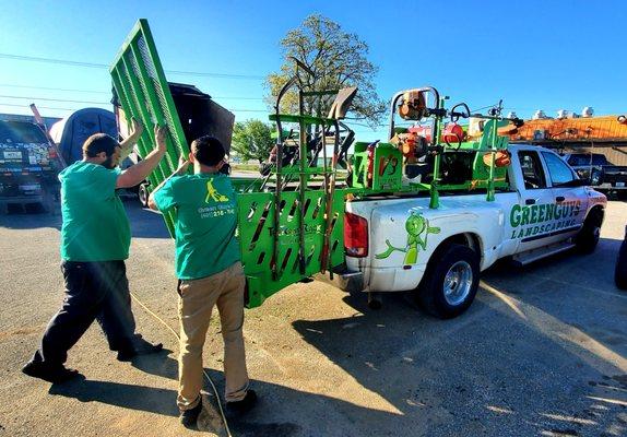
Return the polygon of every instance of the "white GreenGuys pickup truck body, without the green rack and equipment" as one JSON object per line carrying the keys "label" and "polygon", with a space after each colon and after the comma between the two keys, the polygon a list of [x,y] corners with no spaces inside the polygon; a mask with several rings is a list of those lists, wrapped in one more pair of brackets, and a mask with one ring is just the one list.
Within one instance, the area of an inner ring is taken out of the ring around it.
{"label": "white GreenGuys pickup truck body, without the green rack and equipment", "polygon": [[[594,250],[607,200],[553,151],[509,145],[509,189],[428,197],[363,198],[346,203],[347,270],[342,288],[415,291],[422,306],[452,318],[472,304],[480,272],[504,257],[525,264],[573,247]],[[379,298],[378,298],[379,296]]]}

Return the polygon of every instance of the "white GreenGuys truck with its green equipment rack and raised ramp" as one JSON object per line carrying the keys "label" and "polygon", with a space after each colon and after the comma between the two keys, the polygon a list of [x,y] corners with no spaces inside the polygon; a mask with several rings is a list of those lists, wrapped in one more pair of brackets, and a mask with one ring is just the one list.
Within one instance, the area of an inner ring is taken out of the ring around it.
{"label": "white GreenGuys truck with its green equipment rack and raised ramp", "polygon": [[[146,125],[142,153],[152,149],[154,123],[167,127],[167,156],[151,175],[156,186],[189,144],[147,22],[138,22],[110,71],[125,114]],[[435,87],[402,91],[391,99],[387,141],[355,142],[343,119],[358,90],[308,90],[306,74],[314,72],[294,59],[269,116],[276,125],[270,170],[234,181],[249,308],[324,274],[366,292],[372,307],[381,293],[415,291],[429,312],[451,318],[469,308],[481,271],[500,258],[528,263],[594,249],[605,197],[554,152],[509,145],[502,130],[522,120],[502,117],[500,105],[471,114],[464,103],[446,108]],[[289,92],[300,103],[334,99],[327,115],[304,114],[303,104],[282,114]],[[471,116],[483,120],[477,139],[459,123]],[[176,215],[164,218],[171,232]]]}

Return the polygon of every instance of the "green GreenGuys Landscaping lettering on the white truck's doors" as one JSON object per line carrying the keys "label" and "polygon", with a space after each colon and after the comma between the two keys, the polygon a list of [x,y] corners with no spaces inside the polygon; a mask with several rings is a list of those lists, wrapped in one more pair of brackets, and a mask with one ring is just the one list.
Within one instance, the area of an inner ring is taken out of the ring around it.
{"label": "green GreenGuys Landscaping lettering on the white truck's doors", "polygon": [[514,204],[509,213],[509,223],[513,228],[511,239],[542,237],[568,229],[577,224],[576,217],[580,212],[580,200],[534,205]]}

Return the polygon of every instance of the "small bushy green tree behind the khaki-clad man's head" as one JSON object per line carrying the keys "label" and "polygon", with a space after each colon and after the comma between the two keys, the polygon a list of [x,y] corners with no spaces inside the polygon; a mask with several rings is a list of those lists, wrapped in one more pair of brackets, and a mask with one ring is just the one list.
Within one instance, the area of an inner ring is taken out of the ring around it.
{"label": "small bushy green tree behind the khaki-clad man's head", "polygon": [[268,158],[274,146],[272,128],[260,120],[236,122],[233,127],[230,147],[242,161]]}

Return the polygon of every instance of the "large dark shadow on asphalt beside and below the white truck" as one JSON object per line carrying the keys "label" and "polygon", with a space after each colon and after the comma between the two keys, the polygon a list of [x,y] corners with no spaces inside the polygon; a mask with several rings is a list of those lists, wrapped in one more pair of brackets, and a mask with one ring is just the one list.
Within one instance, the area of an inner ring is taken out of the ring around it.
{"label": "large dark shadow on asphalt beside and below the white truck", "polygon": [[[453,320],[433,319],[399,294],[387,295],[379,311],[367,309],[364,295],[348,295],[353,317],[293,326],[364,393],[400,411],[383,422],[334,405],[359,435],[627,432],[627,310],[612,281],[619,244],[603,239],[593,255],[522,269],[501,264]],[[599,306],[582,308],[595,302],[590,293]],[[614,305],[602,305],[614,295]]]}

